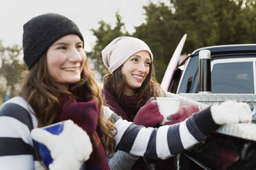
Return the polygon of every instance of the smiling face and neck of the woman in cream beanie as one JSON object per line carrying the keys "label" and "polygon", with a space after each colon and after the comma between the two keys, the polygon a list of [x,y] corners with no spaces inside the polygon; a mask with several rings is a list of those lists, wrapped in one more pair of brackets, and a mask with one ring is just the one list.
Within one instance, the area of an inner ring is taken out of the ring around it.
{"label": "smiling face and neck of the woman in cream beanie", "polygon": [[134,53],[122,64],[121,73],[125,75],[125,95],[134,95],[136,88],[140,88],[149,74],[151,58],[149,52]]}

